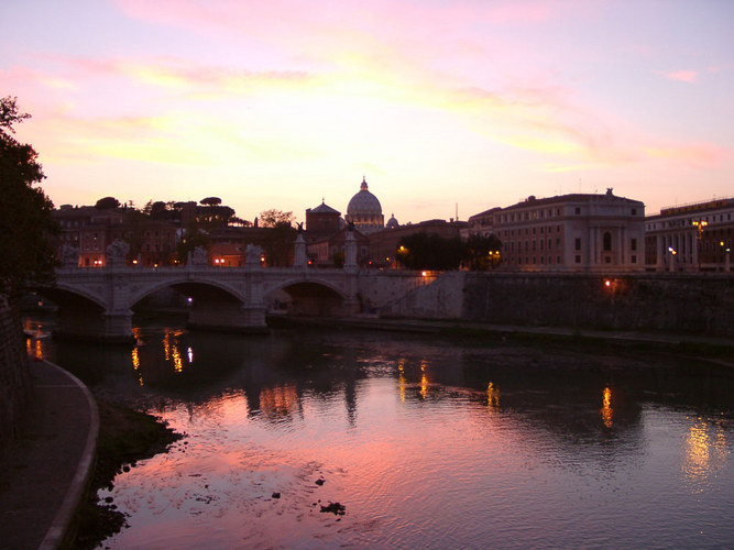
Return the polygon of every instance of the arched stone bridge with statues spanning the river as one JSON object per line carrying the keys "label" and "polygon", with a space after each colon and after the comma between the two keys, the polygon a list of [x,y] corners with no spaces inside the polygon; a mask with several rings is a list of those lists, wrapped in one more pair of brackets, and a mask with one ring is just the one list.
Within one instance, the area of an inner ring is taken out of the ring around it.
{"label": "arched stone bridge with statues spanning the river", "polygon": [[291,315],[351,317],[376,312],[436,277],[415,272],[344,268],[63,267],[54,287],[39,289],[58,306],[59,336],[100,341],[132,339],[133,308],[174,288],[188,299],[191,327],[266,331],[269,309],[280,302]]}

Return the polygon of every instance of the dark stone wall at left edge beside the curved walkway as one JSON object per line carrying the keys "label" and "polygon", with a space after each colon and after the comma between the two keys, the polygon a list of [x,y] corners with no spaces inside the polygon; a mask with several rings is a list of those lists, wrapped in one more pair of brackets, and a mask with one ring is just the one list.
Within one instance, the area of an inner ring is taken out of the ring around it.
{"label": "dark stone wall at left edge beside the curved walkway", "polygon": [[20,312],[0,296],[0,454],[19,427],[31,378]]}

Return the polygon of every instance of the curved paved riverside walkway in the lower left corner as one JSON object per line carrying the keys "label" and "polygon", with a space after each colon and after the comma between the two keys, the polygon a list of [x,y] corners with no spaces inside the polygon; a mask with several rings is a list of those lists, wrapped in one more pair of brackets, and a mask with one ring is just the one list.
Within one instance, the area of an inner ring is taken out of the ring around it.
{"label": "curved paved riverside walkway in the lower left corner", "polygon": [[20,438],[0,460],[0,547],[55,549],[64,540],[91,468],[97,404],[74,375],[32,362],[33,393]]}

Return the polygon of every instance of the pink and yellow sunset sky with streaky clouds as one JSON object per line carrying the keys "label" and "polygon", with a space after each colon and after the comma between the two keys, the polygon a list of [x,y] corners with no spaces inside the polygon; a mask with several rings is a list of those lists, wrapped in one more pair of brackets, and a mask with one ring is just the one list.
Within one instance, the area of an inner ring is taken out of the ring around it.
{"label": "pink and yellow sunset sky with streaky clouds", "polygon": [[734,196],[731,0],[24,0],[0,96],[54,204],[399,222],[528,195]]}

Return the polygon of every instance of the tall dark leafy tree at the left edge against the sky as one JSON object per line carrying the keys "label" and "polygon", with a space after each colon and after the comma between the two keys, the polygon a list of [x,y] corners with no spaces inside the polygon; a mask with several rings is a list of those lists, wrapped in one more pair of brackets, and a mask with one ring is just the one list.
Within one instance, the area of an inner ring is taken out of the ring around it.
{"label": "tall dark leafy tree at the left edge against the sky", "polygon": [[54,205],[34,187],[46,176],[36,151],[13,136],[13,125],[29,118],[17,98],[0,99],[0,294],[10,298],[26,285],[53,282],[56,265]]}

